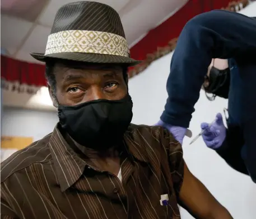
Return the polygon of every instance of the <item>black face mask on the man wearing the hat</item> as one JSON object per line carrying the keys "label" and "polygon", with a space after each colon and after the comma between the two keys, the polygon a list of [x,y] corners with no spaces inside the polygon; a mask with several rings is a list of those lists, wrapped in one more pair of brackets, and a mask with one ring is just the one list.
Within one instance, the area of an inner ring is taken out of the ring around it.
{"label": "black face mask on the man wearing the hat", "polygon": [[59,106],[60,125],[78,144],[104,150],[122,142],[132,121],[132,98],[97,99],[76,106]]}

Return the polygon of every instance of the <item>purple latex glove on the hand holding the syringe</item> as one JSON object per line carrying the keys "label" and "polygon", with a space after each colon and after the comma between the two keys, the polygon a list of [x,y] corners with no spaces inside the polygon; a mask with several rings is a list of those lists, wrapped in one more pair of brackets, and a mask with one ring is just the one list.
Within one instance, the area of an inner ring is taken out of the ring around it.
{"label": "purple latex glove on the hand holding the syringe", "polygon": [[203,141],[207,147],[211,149],[218,149],[226,138],[226,127],[224,126],[222,115],[218,113],[216,115],[215,122],[209,127],[209,123],[201,123],[202,130],[205,130],[202,134]]}

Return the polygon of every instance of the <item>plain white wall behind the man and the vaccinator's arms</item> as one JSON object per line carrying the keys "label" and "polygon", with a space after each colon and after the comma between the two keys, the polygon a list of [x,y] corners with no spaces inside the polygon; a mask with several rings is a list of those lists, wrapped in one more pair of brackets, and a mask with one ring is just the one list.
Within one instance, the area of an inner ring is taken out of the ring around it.
{"label": "plain white wall behind the man and the vaccinator's arms", "polygon": [[[241,13],[256,17],[256,2],[243,9]],[[155,61],[145,72],[129,82],[129,92],[134,104],[133,123],[152,125],[159,120],[167,98],[166,80],[171,56],[172,54],[169,54]],[[212,122],[216,113],[222,113],[226,106],[225,99],[216,98],[210,102],[201,91],[189,127],[193,132],[192,139],[201,131],[201,122]],[[215,151],[208,149],[202,138],[188,145],[190,140],[185,137],[183,142],[184,159],[190,171],[206,185],[234,218],[255,219],[255,184],[246,175],[230,168]],[[187,211],[181,210],[181,218],[193,217]]]}

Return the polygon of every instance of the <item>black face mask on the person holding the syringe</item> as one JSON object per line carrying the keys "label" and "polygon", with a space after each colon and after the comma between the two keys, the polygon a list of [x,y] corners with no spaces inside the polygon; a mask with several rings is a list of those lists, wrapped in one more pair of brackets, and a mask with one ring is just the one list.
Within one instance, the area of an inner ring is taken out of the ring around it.
{"label": "black face mask on the person holding the syringe", "polygon": [[[230,69],[226,68],[224,70],[219,70],[212,66],[210,70],[210,77],[207,77],[209,81],[209,86],[204,87],[206,91],[206,97],[213,101],[216,96],[222,98],[229,97],[229,85],[230,85]],[[210,97],[207,93],[212,93],[213,96]]]}

